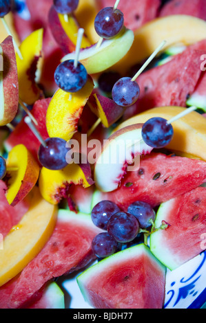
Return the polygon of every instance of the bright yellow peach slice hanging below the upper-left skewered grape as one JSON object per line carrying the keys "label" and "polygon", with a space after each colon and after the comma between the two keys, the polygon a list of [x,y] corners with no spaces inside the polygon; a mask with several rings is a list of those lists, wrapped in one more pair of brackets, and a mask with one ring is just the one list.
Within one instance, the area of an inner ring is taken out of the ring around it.
{"label": "bright yellow peach slice hanging below the upper-left skewered grape", "polygon": [[91,76],[88,76],[85,86],[80,91],[68,93],[58,89],[54,93],[46,115],[46,127],[50,137],[59,137],[66,141],[72,138],[77,131],[83,107],[93,89],[94,82]]}

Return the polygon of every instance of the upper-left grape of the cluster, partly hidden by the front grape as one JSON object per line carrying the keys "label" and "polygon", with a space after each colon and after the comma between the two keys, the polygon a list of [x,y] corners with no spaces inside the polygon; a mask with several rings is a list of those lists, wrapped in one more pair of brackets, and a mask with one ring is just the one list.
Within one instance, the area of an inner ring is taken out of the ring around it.
{"label": "upper-left grape of the cluster, partly hidden by the front grape", "polygon": [[92,209],[92,221],[96,227],[107,230],[107,223],[110,217],[119,212],[119,207],[112,201],[101,201]]}

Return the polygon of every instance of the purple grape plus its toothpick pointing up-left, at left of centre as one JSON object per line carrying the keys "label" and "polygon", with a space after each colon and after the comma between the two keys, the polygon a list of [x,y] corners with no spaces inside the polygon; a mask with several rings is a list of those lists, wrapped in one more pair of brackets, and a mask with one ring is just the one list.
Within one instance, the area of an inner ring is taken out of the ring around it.
{"label": "purple grape plus its toothpick pointing up-left, at left of centre", "polygon": [[66,141],[61,138],[50,137],[43,140],[41,134],[32,123],[30,117],[25,117],[25,123],[41,143],[38,151],[38,158],[41,165],[50,170],[61,170],[68,166],[66,155],[70,148],[66,148]]}

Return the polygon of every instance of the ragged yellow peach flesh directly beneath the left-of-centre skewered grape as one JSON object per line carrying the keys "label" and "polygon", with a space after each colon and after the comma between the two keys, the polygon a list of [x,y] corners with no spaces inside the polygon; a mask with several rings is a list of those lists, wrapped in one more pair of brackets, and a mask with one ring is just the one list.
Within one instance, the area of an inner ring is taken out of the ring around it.
{"label": "ragged yellow peach flesh directly beneath the left-of-centre skewered grape", "polygon": [[49,170],[42,168],[39,175],[39,190],[42,197],[52,204],[59,203],[59,190],[67,188],[68,184],[83,184],[84,188],[90,186],[83,170],[77,164],[71,164],[63,170]]}

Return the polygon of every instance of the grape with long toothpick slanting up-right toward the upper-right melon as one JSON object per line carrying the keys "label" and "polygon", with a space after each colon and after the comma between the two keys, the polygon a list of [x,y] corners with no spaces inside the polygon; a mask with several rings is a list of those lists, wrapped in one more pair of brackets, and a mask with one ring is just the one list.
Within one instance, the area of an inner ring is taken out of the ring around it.
{"label": "grape with long toothpick slanting up-right toward the upper-right melon", "polygon": [[116,104],[121,107],[130,107],[134,104],[140,95],[140,88],[136,82],[136,78],[144,71],[144,69],[151,63],[154,57],[160,52],[160,50],[165,46],[166,41],[163,41],[152,55],[146,60],[145,64],[138,70],[138,72],[133,76],[133,78],[121,78],[118,80],[112,89],[112,99]]}

